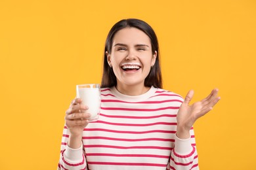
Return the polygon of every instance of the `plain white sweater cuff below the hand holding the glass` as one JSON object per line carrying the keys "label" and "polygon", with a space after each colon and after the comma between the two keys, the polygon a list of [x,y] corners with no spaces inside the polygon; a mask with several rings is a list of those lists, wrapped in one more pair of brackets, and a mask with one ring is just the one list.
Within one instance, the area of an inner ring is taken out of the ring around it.
{"label": "plain white sweater cuff below the hand holding the glass", "polygon": [[71,162],[83,161],[83,144],[77,149],[70,148],[70,146],[66,146],[66,150],[64,152],[65,160]]}

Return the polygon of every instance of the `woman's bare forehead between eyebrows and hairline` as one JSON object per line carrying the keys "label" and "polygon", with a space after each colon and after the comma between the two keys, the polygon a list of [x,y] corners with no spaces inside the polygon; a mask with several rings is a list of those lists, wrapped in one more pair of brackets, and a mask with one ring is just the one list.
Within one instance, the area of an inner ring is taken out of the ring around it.
{"label": "woman's bare forehead between eyebrows and hairline", "polygon": [[147,44],[150,46],[150,38],[146,33],[135,27],[125,27],[117,31],[113,39],[113,44]]}

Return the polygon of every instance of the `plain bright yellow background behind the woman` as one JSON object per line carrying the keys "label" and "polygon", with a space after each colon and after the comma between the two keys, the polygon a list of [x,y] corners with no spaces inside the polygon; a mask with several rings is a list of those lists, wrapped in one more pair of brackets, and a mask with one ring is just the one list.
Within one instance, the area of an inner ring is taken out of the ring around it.
{"label": "plain bright yellow background behind the woman", "polygon": [[200,169],[256,169],[256,1],[0,1],[0,169],[56,169],[75,85],[100,83],[106,35],[140,18],[163,85],[221,101],[196,122]]}

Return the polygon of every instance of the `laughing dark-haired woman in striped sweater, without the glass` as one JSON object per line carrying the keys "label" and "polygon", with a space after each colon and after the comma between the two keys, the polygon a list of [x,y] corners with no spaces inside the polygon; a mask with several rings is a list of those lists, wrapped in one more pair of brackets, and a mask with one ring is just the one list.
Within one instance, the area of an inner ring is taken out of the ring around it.
{"label": "laughing dark-haired woman in striped sweater, without the glass", "polygon": [[219,101],[215,89],[188,105],[161,89],[158,39],[142,20],[117,22],[106,39],[100,118],[74,99],[58,169],[199,169],[194,122]]}

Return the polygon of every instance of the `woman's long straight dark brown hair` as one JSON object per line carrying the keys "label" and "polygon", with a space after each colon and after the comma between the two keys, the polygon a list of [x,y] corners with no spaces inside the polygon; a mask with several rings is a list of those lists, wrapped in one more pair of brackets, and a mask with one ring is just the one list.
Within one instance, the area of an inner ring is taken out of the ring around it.
{"label": "woman's long straight dark brown hair", "polygon": [[103,74],[102,74],[102,80],[101,80],[101,88],[112,87],[112,86],[116,86],[117,84],[116,75],[114,74],[113,69],[108,65],[106,52],[108,52],[108,54],[111,54],[114,36],[116,35],[117,31],[125,27],[135,27],[137,29],[140,29],[141,31],[146,33],[146,35],[148,35],[148,37],[150,38],[150,42],[152,46],[152,54],[155,54],[155,51],[156,51],[158,56],[156,57],[156,62],[154,66],[150,69],[150,73],[145,78],[144,86],[148,86],[148,87],[154,86],[155,88],[162,88],[160,59],[159,59],[160,51],[159,51],[158,38],[156,37],[156,33],[154,32],[152,27],[148,25],[146,22],[138,19],[133,19],[133,18],[120,20],[110,29],[110,32],[108,33],[108,37],[106,39],[105,49],[104,49],[104,65],[103,65]]}

